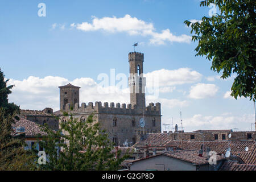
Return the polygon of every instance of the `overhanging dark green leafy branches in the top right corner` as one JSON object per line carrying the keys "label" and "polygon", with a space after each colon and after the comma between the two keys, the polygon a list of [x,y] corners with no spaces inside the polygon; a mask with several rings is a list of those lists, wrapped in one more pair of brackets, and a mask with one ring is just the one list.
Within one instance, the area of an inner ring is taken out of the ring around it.
{"label": "overhanging dark green leafy branches in the top right corner", "polygon": [[204,16],[200,22],[191,23],[192,41],[198,42],[196,56],[206,56],[212,60],[213,71],[222,72],[221,78],[234,73],[236,78],[231,88],[231,96],[249,97],[255,101],[256,61],[255,61],[255,0],[208,0],[200,6],[215,3],[220,13],[212,17]]}

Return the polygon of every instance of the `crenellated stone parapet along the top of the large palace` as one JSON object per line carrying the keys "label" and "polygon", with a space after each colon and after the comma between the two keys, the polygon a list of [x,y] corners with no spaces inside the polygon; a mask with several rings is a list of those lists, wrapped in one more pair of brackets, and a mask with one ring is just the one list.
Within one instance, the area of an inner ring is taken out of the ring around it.
{"label": "crenellated stone parapet along the top of the large palace", "polygon": [[[64,107],[64,106],[63,106]],[[76,114],[76,113],[96,113],[96,114],[149,114],[149,115],[160,115],[161,114],[161,105],[160,103],[150,103],[145,107],[144,110],[138,109],[137,105],[131,104],[120,104],[114,102],[104,102],[104,105],[101,102],[89,102],[86,105],[84,102],[79,106],[78,103],[75,104],[75,107],[71,109],[71,104],[66,104],[63,111]]]}

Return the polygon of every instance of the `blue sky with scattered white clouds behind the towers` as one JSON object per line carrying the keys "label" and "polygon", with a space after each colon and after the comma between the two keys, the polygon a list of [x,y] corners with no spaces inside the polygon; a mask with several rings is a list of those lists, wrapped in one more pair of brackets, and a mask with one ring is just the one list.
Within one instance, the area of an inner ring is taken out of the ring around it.
{"label": "blue sky with scattered white clouds behind the towers", "polygon": [[[38,16],[39,3],[46,4],[45,17]],[[180,125],[182,111],[185,131],[250,130],[253,102],[228,97],[233,77],[221,80],[210,61],[195,57],[183,23],[209,10],[199,0],[1,1],[0,67],[15,84],[9,100],[22,109],[57,110],[57,86],[72,82],[81,86],[80,102],[128,103],[123,94],[99,96],[94,86],[110,69],[128,75],[128,53],[138,42],[144,73],[166,73],[159,80],[164,91],[147,97],[162,103],[162,123],[173,117]]]}

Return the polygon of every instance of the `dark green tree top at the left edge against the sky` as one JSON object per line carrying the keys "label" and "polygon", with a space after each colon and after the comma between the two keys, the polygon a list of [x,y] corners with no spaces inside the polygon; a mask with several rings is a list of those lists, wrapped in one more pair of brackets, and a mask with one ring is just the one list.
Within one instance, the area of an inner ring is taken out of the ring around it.
{"label": "dark green tree top at the left edge against the sky", "polygon": [[5,109],[5,114],[13,115],[15,111],[19,111],[19,106],[14,103],[8,103],[8,95],[11,93],[11,88],[14,85],[7,86],[9,79],[5,80],[5,75],[0,68],[0,107]]}

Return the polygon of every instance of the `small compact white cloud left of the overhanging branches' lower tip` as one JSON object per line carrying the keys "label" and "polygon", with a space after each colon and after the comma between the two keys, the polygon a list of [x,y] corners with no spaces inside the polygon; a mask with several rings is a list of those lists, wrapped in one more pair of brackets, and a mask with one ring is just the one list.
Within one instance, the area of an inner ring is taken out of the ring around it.
{"label": "small compact white cloud left of the overhanging branches' lower tip", "polygon": [[190,98],[201,99],[206,97],[213,97],[218,91],[218,87],[214,84],[196,84],[191,86],[189,91]]}

